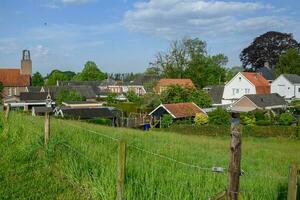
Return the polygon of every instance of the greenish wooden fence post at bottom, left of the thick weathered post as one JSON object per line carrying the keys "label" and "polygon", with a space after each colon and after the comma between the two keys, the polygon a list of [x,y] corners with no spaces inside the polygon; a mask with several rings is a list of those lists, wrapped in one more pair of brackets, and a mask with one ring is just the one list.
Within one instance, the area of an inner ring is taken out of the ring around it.
{"label": "greenish wooden fence post at bottom, left of the thick weathered post", "polygon": [[126,143],[124,140],[119,140],[118,145],[117,200],[124,200]]}

